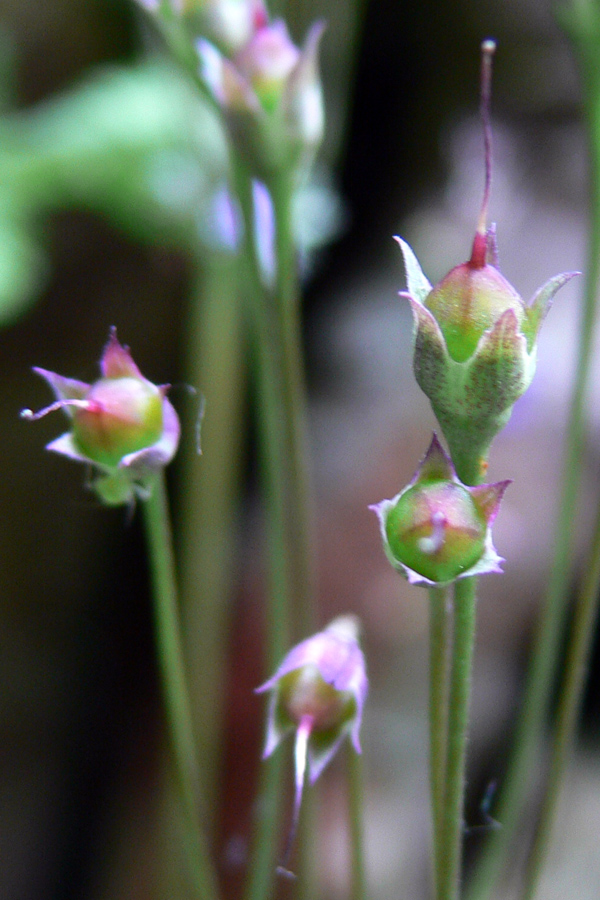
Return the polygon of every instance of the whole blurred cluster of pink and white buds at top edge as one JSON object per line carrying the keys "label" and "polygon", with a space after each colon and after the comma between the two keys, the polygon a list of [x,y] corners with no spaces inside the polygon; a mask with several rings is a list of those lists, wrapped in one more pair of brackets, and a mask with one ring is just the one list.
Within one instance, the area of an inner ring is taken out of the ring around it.
{"label": "whole blurred cluster of pink and white buds at top edge", "polygon": [[138,0],[178,42],[188,45],[199,75],[252,174],[263,181],[310,161],[323,138],[318,52],[324,24],[304,46],[264,0]]}

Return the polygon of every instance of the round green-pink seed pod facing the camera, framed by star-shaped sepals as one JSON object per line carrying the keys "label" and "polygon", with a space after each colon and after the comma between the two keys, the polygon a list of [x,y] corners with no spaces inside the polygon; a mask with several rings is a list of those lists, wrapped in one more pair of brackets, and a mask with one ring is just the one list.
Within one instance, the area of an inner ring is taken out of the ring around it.
{"label": "round green-pink seed pod facing the camera, framed by star-shaped sepals", "polygon": [[434,435],[411,483],[370,507],[388,559],[412,584],[450,584],[502,571],[491,525],[508,484],[462,484]]}

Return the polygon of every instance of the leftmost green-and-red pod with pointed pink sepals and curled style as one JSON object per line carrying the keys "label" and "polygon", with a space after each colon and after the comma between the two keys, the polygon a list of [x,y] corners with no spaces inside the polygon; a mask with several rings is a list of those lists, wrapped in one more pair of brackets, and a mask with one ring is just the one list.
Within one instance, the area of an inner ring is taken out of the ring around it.
{"label": "leftmost green-and-red pod with pointed pink sepals and curled style", "polygon": [[91,463],[97,474],[93,487],[109,505],[143,495],[157,469],[173,458],[179,443],[179,420],[166,397],[168,386],[157,386],[141,374],[127,347],[111,331],[100,361],[101,378],[86,384],[46,369],[34,368],[53,389],[57,400],[38,413],[39,419],[63,409],[71,429],[47,449],[79,462]]}

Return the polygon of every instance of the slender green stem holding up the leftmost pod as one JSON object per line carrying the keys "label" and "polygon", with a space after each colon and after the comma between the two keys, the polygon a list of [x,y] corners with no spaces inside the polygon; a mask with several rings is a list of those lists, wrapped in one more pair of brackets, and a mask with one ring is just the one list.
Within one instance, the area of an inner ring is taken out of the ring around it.
{"label": "slender green stem holding up the leftmost pod", "polygon": [[174,762],[183,805],[186,840],[196,894],[218,900],[217,878],[199,813],[198,762],[186,685],[175,560],[164,474],[157,474],[142,510],[154,591],[156,641]]}

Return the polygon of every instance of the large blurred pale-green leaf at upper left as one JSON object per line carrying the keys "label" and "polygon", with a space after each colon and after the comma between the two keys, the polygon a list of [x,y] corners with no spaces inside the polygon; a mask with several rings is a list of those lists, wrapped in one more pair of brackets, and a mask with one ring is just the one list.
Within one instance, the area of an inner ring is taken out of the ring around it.
{"label": "large blurred pale-green leaf at upper left", "polygon": [[214,113],[165,64],[106,70],[0,120],[0,323],[47,271],[39,222],[87,208],[134,238],[188,249],[227,176]]}

